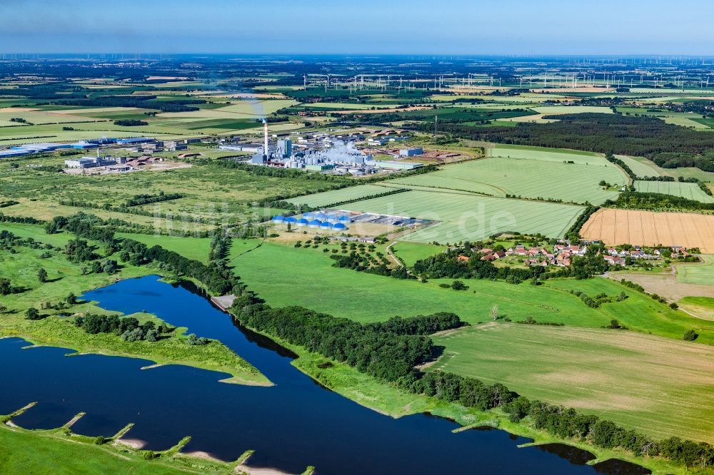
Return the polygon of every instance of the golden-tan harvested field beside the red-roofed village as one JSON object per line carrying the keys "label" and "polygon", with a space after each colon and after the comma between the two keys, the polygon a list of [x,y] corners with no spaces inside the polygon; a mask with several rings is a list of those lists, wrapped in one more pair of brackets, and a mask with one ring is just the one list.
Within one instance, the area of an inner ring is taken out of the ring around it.
{"label": "golden-tan harvested field beside the red-roofed village", "polygon": [[714,215],[601,209],[580,233],[608,245],[680,245],[714,252]]}

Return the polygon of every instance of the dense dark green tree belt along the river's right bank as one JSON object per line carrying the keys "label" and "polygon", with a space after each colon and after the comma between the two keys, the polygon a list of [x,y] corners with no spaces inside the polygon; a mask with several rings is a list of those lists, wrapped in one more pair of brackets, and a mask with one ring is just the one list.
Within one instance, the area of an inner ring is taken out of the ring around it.
{"label": "dense dark green tree belt along the river's right bank", "polygon": [[418,372],[414,367],[433,356],[433,342],[424,334],[463,325],[453,314],[360,325],[302,307],[274,309],[251,304],[246,298],[236,300],[231,312],[247,327],[344,362],[416,394],[479,410],[502,407],[513,422],[528,418],[536,428],[562,439],[586,441],[605,449],[620,447],[635,455],[660,455],[687,466],[714,464],[714,448],[703,442],[678,438],[655,441],[575,409],[531,401],[503,384],[486,384],[441,371]]}

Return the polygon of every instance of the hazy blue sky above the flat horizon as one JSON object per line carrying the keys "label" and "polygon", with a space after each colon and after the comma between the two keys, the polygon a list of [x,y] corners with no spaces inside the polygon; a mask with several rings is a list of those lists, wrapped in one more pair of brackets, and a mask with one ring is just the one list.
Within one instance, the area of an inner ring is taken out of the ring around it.
{"label": "hazy blue sky above the flat horizon", "polygon": [[711,0],[0,0],[0,53],[714,55]]}

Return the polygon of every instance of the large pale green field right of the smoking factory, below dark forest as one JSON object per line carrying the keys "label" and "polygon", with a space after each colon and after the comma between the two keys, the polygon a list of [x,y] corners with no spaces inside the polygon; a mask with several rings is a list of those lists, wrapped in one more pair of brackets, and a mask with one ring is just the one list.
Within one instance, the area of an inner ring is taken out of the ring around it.
{"label": "large pale green field right of the smoking factory, below dark forest", "polygon": [[[616,191],[603,190],[598,185],[600,180],[617,185],[627,183],[627,178],[620,170],[605,165],[607,162],[602,163],[596,157],[585,164],[580,163],[583,155],[550,154],[561,158],[556,162],[540,159],[542,155],[537,152],[533,153],[534,158],[506,158],[494,155],[501,149],[491,150],[493,158],[456,163],[433,173],[399,178],[388,183],[468,190],[492,196],[512,195],[593,204],[614,200],[618,195]],[[501,150],[500,154],[511,155],[510,150]],[[571,156],[578,161],[565,163],[575,161],[570,160]]]}

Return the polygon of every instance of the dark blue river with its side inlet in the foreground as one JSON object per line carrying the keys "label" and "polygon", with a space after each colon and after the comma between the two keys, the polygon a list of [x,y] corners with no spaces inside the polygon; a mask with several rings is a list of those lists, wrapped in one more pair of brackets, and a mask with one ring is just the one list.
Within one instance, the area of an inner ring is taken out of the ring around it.
{"label": "dark blue river with its side inlet in the foreground", "polygon": [[[229,315],[186,287],[157,276],[124,280],[87,292],[86,300],[126,314],[150,312],[199,337],[220,339],[270,379],[273,387],[225,384],[224,374],[182,366],[140,370],[146,360],[66,349],[21,349],[19,338],[0,340],[0,414],[28,402],[14,419],[29,429],[49,429],[86,412],[72,429],[111,436],[129,422],[127,439],[163,450],[190,435],[183,451],[205,451],[234,460],[256,451],[248,465],[317,474],[641,474],[626,463],[585,465],[587,452],[554,444],[518,449],[529,439],[506,431],[466,430],[416,414],[379,414],[313,382],[293,367],[292,355],[269,339],[239,328]],[[563,447],[566,447],[565,449]]]}

